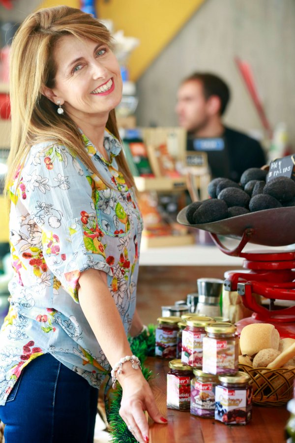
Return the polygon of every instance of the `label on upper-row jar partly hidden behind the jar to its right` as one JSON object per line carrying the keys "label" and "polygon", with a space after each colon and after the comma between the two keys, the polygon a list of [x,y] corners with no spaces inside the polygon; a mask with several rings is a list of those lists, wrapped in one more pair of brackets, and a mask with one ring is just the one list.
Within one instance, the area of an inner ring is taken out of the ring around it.
{"label": "label on upper-row jar partly hidden behind the jar to its right", "polygon": [[203,339],[206,333],[182,331],[181,361],[193,368],[202,368]]}

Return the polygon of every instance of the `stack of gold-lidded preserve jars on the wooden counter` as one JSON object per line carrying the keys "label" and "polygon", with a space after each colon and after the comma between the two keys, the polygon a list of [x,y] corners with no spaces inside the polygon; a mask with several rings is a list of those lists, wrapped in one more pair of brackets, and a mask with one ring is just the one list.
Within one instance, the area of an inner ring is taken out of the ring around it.
{"label": "stack of gold-lidded preserve jars on the wooden counter", "polygon": [[[252,388],[249,376],[238,372],[236,326],[187,314],[181,321],[172,321],[173,356],[179,356],[181,337],[181,359],[169,362],[167,406],[190,410],[200,417],[215,417],[225,424],[246,424],[251,419]],[[159,326],[164,325],[160,322]],[[167,349],[162,356],[165,353]]]}

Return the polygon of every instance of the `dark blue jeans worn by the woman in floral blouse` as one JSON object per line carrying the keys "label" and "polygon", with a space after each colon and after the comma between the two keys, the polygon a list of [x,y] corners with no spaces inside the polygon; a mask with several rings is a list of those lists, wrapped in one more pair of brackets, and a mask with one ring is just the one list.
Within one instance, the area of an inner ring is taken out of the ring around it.
{"label": "dark blue jeans worn by the woman in floral blouse", "polygon": [[26,366],[4,406],[5,443],[93,443],[98,389],[51,354]]}

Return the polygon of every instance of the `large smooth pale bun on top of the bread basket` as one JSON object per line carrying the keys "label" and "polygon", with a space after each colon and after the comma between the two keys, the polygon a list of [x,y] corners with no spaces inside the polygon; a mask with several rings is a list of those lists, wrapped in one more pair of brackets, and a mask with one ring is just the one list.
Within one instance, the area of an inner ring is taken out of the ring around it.
{"label": "large smooth pale bun on top of the bread basket", "polygon": [[253,323],[245,326],[240,335],[242,354],[254,355],[261,349],[278,349],[280,334],[273,324]]}

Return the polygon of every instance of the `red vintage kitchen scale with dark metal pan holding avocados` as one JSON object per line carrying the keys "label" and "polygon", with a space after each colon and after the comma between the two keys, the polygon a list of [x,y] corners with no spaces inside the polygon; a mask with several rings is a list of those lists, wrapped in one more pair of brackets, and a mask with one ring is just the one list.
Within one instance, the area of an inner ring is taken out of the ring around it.
{"label": "red vintage kitchen scale with dark metal pan holding avocados", "polygon": [[[225,290],[237,291],[251,317],[236,323],[237,332],[249,323],[272,323],[281,337],[295,338],[295,245],[294,250],[247,251],[247,243],[270,247],[295,244],[295,207],[274,208],[244,214],[230,219],[206,224],[191,225],[182,209],[177,221],[190,227],[208,231],[216,246],[227,255],[244,259],[246,271],[230,271],[225,280]],[[239,240],[235,249],[226,248],[218,235]],[[253,294],[268,299],[268,307],[256,302]],[[291,305],[280,307],[282,300]],[[294,302],[294,303],[292,303]]]}

